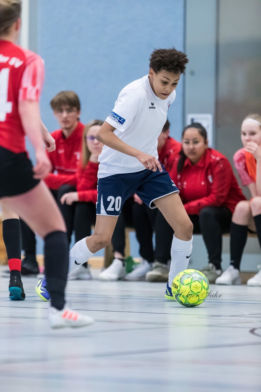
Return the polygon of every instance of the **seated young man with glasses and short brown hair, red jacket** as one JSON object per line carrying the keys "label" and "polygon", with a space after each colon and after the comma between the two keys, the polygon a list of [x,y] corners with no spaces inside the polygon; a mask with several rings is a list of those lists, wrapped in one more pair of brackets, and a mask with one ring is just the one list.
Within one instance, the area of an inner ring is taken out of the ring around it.
{"label": "seated young man with glasses and short brown hair, red jacket", "polygon": [[[46,183],[56,198],[58,205],[61,196],[65,192],[75,190],[68,185],[68,174],[74,176],[81,154],[82,134],[84,125],[79,122],[81,107],[79,98],[73,91],[61,91],[51,100],[50,105],[54,111],[61,129],[52,132],[56,142],[56,149],[48,153],[55,174],[47,176]],[[64,176],[67,178],[65,180]],[[74,219],[74,207],[68,209],[64,215],[68,240],[70,243],[72,235],[72,224]],[[22,249],[25,258],[22,261],[22,274],[36,274],[39,272],[36,262],[36,240],[31,229],[21,221]]]}

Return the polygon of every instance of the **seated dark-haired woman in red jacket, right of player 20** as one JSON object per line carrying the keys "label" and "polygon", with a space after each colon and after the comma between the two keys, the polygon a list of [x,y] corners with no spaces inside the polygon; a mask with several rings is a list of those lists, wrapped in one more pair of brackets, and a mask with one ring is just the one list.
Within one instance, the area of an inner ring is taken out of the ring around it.
{"label": "seated dark-haired woman in red jacket, right of player 20", "polygon": [[[193,233],[203,235],[209,263],[202,272],[213,283],[221,274],[222,234],[230,231],[232,213],[245,196],[227,158],[208,148],[207,132],[200,123],[185,127],[182,151],[175,157],[169,174],[180,190],[180,198],[194,225]],[[173,231],[160,213],[155,231],[155,258],[167,263]]]}

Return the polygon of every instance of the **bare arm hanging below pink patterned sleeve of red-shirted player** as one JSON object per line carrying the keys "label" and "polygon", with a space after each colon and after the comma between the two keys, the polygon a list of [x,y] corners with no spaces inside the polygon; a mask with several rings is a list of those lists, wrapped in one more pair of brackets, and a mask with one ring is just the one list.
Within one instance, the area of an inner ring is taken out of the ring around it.
{"label": "bare arm hanging below pink patterned sleeve of red-shirted player", "polygon": [[34,178],[45,178],[51,170],[50,160],[45,154],[41,133],[40,109],[36,101],[20,101],[18,112],[25,134],[35,150],[36,165],[33,168]]}

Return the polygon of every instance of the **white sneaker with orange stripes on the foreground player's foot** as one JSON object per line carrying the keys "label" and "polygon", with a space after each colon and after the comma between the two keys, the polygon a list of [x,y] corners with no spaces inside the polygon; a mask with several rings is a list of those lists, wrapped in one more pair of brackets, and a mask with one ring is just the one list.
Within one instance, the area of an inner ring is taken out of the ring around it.
{"label": "white sneaker with orange stripes on the foreground player's foot", "polygon": [[49,309],[48,319],[51,328],[85,327],[94,323],[94,319],[89,316],[83,316],[68,308],[58,310],[52,306]]}

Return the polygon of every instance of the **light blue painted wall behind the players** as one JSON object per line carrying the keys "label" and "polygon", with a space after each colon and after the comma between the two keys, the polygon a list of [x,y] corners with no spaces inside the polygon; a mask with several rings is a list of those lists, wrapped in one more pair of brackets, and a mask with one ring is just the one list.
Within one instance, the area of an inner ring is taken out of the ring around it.
{"label": "light blue painted wall behind the players", "polygon": [[[59,91],[79,95],[83,123],[105,119],[119,91],[148,73],[154,49],[184,50],[184,0],[38,0],[37,19],[37,53],[45,61],[41,116],[50,132],[58,124],[49,102]],[[169,121],[171,135],[180,140],[183,76],[176,92]]]}

